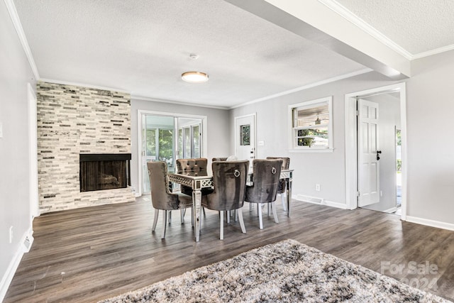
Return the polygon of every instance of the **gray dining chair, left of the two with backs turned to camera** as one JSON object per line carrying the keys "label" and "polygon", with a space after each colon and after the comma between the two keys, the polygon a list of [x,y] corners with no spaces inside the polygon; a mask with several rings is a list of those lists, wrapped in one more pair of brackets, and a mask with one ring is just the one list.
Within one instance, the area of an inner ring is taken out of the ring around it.
{"label": "gray dining chair, left of the two with backs turned to camera", "polygon": [[201,205],[206,209],[219,211],[221,221],[219,239],[221,240],[224,238],[224,211],[238,209],[241,231],[246,233],[241,208],[244,204],[248,166],[249,160],[231,162],[215,161],[211,164],[214,192],[202,196]]}

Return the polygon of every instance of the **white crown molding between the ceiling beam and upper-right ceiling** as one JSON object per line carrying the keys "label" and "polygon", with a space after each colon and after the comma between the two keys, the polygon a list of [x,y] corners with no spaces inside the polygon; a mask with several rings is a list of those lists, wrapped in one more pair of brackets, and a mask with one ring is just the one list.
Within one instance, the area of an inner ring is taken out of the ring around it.
{"label": "white crown molding between the ceiling beam and upper-right ceiling", "polygon": [[372,37],[379,40],[384,45],[387,45],[388,48],[391,48],[396,53],[399,53],[399,55],[404,56],[408,60],[413,60],[414,56],[411,53],[406,51],[404,48],[402,48],[400,45],[395,43],[393,40],[389,39],[386,35],[383,35],[382,33],[380,33],[380,31],[377,31],[375,28],[373,28],[368,23],[366,23],[364,20],[362,20],[361,18],[356,16],[354,13],[352,13],[351,11],[346,9],[345,6],[342,6],[337,1],[319,0],[319,2],[321,4],[326,5],[332,11],[335,11],[339,15],[343,16],[343,18],[345,18],[345,20],[350,21],[351,23],[355,24],[355,26],[358,26],[358,28],[362,29],[362,31],[365,31],[365,33],[372,35]]}

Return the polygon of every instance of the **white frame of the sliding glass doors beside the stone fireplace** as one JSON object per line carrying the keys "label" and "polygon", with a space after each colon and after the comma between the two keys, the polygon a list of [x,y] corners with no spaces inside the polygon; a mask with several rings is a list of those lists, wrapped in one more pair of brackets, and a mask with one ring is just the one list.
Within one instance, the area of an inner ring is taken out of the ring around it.
{"label": "white frame of the sliding glass doors beside the stone fireplace", "polygon": [[[142,195],[142,184],[143,184],[143,176],[142,176],[142,115],[153,115],[153,116],[171,116],[171,117],[181,117],[181,118],[192,118],[192,119],[201,119],[201,157],[206,157],[208,154],[208,146],[207,146],[207,136],[208,131],[206,127],[206,116],[199,116],[199,115],[191,115],[191,114],[178,114],[178,113],[170,113],[165,111],[147,111],[143,109],[138,109],[137,111],[137,139],[138,145],[136,153],[138,155],[138,190],[136,192],[136,197],[140,197]],[[178,125],[175,123],[174,125],[175,133],[178,134]],[[174,146],[177,145],[177,136],[174,136]]]}

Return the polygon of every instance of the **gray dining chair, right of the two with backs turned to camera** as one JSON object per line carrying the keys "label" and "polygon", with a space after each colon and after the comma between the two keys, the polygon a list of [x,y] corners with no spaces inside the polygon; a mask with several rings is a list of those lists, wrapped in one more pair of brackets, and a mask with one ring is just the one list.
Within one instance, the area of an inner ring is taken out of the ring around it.
{"label": "gray dining chair, right of the two with backs turned to camera", "polygon": [[279,177],[282,169],[282,159],[253,160],[253,184],[246,187],[245,202],[258,204],[259,228],[263,228],[262,221],[262,204],[270,203],[272,214],[277,220],[276,213],[276,196],[279,187]]}

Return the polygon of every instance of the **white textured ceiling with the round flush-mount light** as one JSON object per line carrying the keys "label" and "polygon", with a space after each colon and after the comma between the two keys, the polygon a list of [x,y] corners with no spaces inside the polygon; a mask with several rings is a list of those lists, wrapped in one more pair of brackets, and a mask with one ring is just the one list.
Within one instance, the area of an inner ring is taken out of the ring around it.
{"label": "white textured ceiling with the round flush-mount light", "polygon": [[221,0],[14,3],[44,79],[230,107],[365,68]]}

